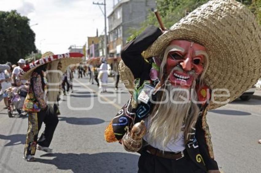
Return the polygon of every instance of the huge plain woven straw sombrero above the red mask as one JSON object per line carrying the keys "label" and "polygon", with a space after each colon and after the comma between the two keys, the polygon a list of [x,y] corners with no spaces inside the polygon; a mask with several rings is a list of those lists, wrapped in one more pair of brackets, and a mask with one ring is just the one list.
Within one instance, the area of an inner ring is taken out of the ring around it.
{"label": "huge plain woven straw sombrero above the red mask", "polygon": [[[220,102],[227,99],[233,101],[252,87],[261,75],[260,28],[255,16],[240,2],[207,2],[161,35],[142,53],[143,57],[159,56],[175,39],[192,40],[204,45],[209,58],[204,82],[212,91],[223,89],[215,94],[227,94],[224,89],[230,93],[228,97],[213,97],[208,109],[225,105]],[[128,75],[125,78],[131,79]]]}

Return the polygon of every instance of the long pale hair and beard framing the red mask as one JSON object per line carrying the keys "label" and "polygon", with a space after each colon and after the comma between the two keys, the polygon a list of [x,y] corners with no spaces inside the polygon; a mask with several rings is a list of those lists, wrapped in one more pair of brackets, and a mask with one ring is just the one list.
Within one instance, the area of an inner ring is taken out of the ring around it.
{"label": "long pale hair and beard framing the red mask", "polygon": [[[160,79],[164,81],[168,81],[169,79],[169,76],[166,76],[165,69],[170,50],[173,50],[173,45],[168,46],[165,53],[162,55]],[[207,57],[205,59],[207,59]],[[208,60],[205,60],[204,71],[199,77],[199,82],[203,79],[207,66]],[[155,104],[149,116],[147,142],[153,143],[155,140],[161,140],[162,147],[164,148],[171,138],[177,138],[178,134],[181,132],[182,126],[184,126],[184,135],[185,138],[187,138],[199,115],[197,103],[192,102],[193,100],[197,101],[195,86],[196,80],[193,81],[192,87],[189,90],[189,96],[187,96],[187,92],[184,90],[177,90],[177,87],[165,83],[164,90],[161,90],[158,93],[158,103]],[[194,92],[191,92],[192,89]],[[182,97],[189,97],[190,99],[189,101],[184,102]]]}

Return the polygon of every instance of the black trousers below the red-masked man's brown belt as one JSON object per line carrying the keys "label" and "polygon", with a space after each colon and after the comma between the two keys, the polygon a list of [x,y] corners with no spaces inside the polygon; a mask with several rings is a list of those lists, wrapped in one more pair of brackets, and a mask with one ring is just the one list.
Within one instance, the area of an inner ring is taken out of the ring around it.
{"label": "black trousers below the red-masked man's brown belt", "polygon": [[190,158],[174,160],[152,155],[142,151],[138,162],[138,173],[205,173]]}

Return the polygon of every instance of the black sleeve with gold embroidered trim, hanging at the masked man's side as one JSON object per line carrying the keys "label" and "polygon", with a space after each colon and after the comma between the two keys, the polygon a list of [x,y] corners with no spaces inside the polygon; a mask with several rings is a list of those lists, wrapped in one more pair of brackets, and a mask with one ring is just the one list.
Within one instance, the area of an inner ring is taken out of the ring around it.
{"label": "black sleeve with gold embroidered trim, hanging at the masked man's side", "polygon": [[214,160],[211,135],[206,121],[207,110],[202,112],[196,123],[196,139],[199,146],[199,152],[203,157],[207,170],[218,170],[218,165]]}

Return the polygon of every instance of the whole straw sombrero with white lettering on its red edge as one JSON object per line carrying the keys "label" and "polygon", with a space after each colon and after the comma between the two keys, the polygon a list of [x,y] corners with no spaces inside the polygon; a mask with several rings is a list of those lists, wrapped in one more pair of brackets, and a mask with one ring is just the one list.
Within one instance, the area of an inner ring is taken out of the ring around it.
{"label": "whole straw sombrero with white lettering on its red edge", "polygon": [[50,63],[52,61],[60,61],[61,63],[60,70],[64,73],[66,71],[66,68],[70,64],[80,63],[83,60],[82,57],[84,57],[84,55],[81,53],[64,53],[64,54],[53,55],[52,52],[46,52],[45,54],[43,54],[41,59],[26,65],[23,68],[23,70],[20,72],[19,77],[21,79],[28,80],[30,79],[32,72],[37,67]]}

